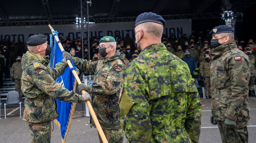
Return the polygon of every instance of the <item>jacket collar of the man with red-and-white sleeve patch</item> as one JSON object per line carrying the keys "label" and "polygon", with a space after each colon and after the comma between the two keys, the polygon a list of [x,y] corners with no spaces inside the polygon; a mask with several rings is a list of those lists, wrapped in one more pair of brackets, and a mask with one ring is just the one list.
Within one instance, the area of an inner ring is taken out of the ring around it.
{"label": "jacket collar of the man with red-and-white sleeve patch", "polygon": [[224,53],[225,51],[231,50],[236,48],[236,42],[235,41],[231,41],[225,44],[222,44],[214,49],[211,50],[211,57],[218,57],[220,55],[222,55],[222,53]]}

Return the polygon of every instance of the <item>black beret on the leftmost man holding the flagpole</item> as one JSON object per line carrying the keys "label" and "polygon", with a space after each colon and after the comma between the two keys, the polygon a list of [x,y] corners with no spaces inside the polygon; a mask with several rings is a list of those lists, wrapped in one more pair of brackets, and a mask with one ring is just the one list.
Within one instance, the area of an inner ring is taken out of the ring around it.
{"label": "black beret on the leftmost man holding the flagpole", "polygon": [[43,34],[32,35],[27,40],[28,46],[37,46],[47,42],[47,37]]}

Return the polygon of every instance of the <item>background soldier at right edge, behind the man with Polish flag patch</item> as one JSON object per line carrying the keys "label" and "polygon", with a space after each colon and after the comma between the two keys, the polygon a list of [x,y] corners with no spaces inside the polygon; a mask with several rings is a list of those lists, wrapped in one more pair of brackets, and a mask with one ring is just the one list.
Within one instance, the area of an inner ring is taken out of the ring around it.
{"label": "background soldier at right edge, behind the man with Polish flag patch", "polygon": [[256,78],[256,69],[255,69],[255,55],[252,54],[252,51],[250,47],[246,48],[244,53],[248,55],[249,61],[250,61],[250,66],[251,66],[251,77],[250,77],[250,82],[249,82],[249,95],[250,96],[255,96],[254,93],[254,85],[255,85],[255,78]]}

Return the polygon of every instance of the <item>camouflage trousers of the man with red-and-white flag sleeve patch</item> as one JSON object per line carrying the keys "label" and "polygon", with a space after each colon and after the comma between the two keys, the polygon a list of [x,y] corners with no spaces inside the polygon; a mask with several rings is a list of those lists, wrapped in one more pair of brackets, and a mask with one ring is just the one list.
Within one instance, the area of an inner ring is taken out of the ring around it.
{"label": "camouflage trousers of the man with red-and-white flag sleeve patch", "polygon": [[225,128],[224,121],[217,120],[221,140],[223,143],[247,143],[248,131],[247,126],[239,129]]}

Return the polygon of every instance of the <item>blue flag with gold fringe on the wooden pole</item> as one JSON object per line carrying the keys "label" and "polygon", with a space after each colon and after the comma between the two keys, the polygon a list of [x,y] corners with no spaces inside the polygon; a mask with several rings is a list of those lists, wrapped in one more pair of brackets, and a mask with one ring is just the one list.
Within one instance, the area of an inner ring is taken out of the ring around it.
{"label": "blue flag with gold fringe on the wooden pole", "polygon": [[[56,34],[58,35],[58,32],[56,31]],[[60,47],[58,46],[57,41],[54,39],[54,45],[52,43],[52,35],[50,35],[50,46],[51,46],[51,55],[50,55],[50,66],[51,69],[56,67],[56,63],[62,61],[62,52],[60,50]],[[72,62],[73,64],[73,62]],[[73,65],[73,67],[75,67]],[[69,91],[74,90],[74,82],[75,78],[70,71],[69,67],[66,67],[64,73],[59,76],[56,81],[62,86],[63,88],[68,89]],[[61,136],[62,136],[62,142],[66,141],[66,136],[68,134],[68,130],[71,125],[71,121],[73,118],[74,109],[76,106],[76,103],[72,102],[62,102],[60,100],[56,100],[56,106],[57,106],[57,113],[59,114],[59,117],[54,120],[54,122],[59,126]]]}

